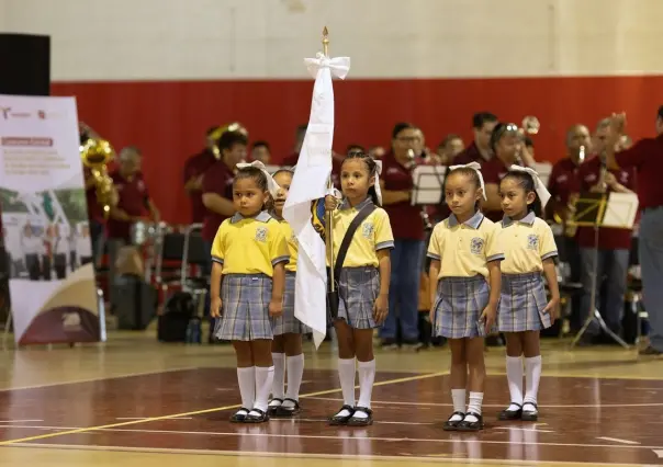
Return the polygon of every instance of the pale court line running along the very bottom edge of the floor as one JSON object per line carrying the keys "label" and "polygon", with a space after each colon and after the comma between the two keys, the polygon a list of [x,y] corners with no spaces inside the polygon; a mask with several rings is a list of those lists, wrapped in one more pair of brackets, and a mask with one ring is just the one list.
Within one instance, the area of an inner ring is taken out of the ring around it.
{"label": "pale court line running along the very bottom edge of the floor", "polygon": [[[398,462],[398,463],[412,463],[416,460],[418,463],[461,463],[463,465],[470,464],[490,464],[490,465],[518,465],[531,467],[531,460],[519,460],[519,459],[490,459],[490,458],[468,458],[468,457],[440,457],[439,455],[429,456],[386,456],[378,454],[322,454],[322,453],[280,453],[280,452],[246,452],[246,451],[213,451],[213,449],[182,449],[182,448],[168,448],[168,447],[131,447],[131,446],[91,446],[91,445],[76,445],[76,444],[44,444],[44,443],[23,443],[13,444],[11,446],[0,447],[0,449],[11,448],[33,448],[33,449],[61,449],[61,451],[93,451],[93,452],[116,452],[116,453],[141,453],[141,454],[158,454],[158,455],[192,455],[192,456],[217,456],[217,457],[254,457],[254,458],[306,458],[306,459],[325,459],[325,460],[337,460],[337,459],[351,459],[358,460],[375,460],[375,462]],[[583,465],[586,467],[603,467],[606,464],[587,463],[583,460],[539,460],[538,464],[543,465],[559,465],[559,466],[578,466]],[[642,467],[642,464],[609,464],[610,467]]]}

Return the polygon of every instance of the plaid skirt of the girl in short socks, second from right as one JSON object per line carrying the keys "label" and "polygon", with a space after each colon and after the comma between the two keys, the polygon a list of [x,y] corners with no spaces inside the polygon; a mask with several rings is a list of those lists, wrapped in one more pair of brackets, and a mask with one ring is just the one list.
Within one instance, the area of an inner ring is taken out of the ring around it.
{"label": "plaid skirt of the girl in short socks, second from right", "polygon": [[482,275],[442,277],[434,305],[432,334],[447,339],[485,337],[485,327],[479,318],[488,305],[488,283]]}

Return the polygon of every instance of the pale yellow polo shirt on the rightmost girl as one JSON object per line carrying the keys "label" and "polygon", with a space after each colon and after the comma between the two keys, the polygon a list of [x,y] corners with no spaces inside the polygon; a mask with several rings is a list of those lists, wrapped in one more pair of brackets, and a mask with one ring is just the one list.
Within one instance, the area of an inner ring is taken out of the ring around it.
{"label": "pale yellow polo shirt on the rightmost girl", "polygon": [[497,229],[506,255],[501,264],[503,274],[541,272],[543,260],[558,255],[550,226],[535,213],[530,212],[520,220],[504,216]]}

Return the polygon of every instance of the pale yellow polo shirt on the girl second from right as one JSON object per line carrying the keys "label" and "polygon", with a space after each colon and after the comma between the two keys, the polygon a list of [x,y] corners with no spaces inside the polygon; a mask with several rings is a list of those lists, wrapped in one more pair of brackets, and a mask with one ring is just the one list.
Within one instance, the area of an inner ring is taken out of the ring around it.
{"label": "pale yellow polo shirt on the girl second from right", "polygon": [[480,212],[463,224],[452,214],[435,226],[428,258],[440,262],[438,278],[487,277],[487,263],[504,260],[497,232],[495,223]]}

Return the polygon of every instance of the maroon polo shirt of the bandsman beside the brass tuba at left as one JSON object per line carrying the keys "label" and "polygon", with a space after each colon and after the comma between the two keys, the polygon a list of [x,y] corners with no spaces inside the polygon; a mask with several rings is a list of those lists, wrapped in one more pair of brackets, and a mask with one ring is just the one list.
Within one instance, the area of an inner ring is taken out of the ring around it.
{"label": "maroon polo shirt of the bandsman beside the brass tuba at left", "polygon": [[[111,173],[113,185],[117,191],[117,208],[132,217],[141,217],[147,213],[149,193],[142,173],[136,173],[131,180],[125,179],[120,172]],[[106,234],[109,238],[130,240],[132,221],[117,220],[109,217]]]}

